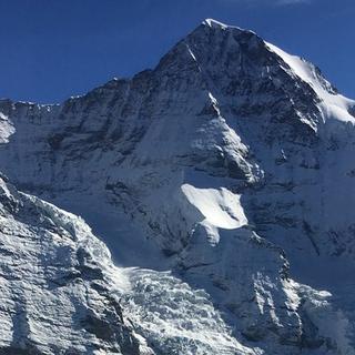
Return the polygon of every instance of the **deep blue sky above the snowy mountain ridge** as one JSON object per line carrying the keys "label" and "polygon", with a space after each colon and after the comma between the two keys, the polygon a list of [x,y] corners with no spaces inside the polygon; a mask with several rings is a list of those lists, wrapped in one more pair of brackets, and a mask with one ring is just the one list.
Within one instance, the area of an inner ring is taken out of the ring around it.
{"label": "deep blue sky above the snowy mountain ridge", "polygon": [[355,0],[0,0],[0,97],[60,102],[152,68],[203,19],[256,31],[355,98]]}

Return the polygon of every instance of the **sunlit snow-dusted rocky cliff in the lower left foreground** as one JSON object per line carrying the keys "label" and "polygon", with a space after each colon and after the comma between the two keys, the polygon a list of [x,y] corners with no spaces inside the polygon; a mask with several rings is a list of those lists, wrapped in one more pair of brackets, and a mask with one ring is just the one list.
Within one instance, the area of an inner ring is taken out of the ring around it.
{"label": "sunlit snow-dusted rocky cliff in the lower left foreground", "polygon": [[140,354],[125,277],[81,219],[1,180],[0,243],[0,354]]}

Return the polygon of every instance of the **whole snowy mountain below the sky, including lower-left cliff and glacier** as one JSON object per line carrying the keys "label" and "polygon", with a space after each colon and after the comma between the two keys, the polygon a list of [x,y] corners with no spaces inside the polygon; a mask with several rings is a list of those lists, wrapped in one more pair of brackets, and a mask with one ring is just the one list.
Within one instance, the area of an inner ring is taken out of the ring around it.
{"label": "whole snowy mountain below the sky, including lower-left cliff and glacier", "polygon": [[355,354],[354,122],[214,20],[132,79],[1,100],[0,353]]}

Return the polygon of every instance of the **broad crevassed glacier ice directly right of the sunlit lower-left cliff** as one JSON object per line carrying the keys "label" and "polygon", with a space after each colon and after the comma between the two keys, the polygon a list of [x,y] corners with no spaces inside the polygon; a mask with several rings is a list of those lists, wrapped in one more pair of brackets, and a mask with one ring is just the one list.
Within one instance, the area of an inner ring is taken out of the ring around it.
{"label": "broad crevassed glacier ice directly right of the sunlit lower-left cliff", "polygon": [[158,354],[257,354],[241,345],[211,296],[193,290],[171,272],[131,270],[133,288],[122,302],[135,332],[149,339]]}

